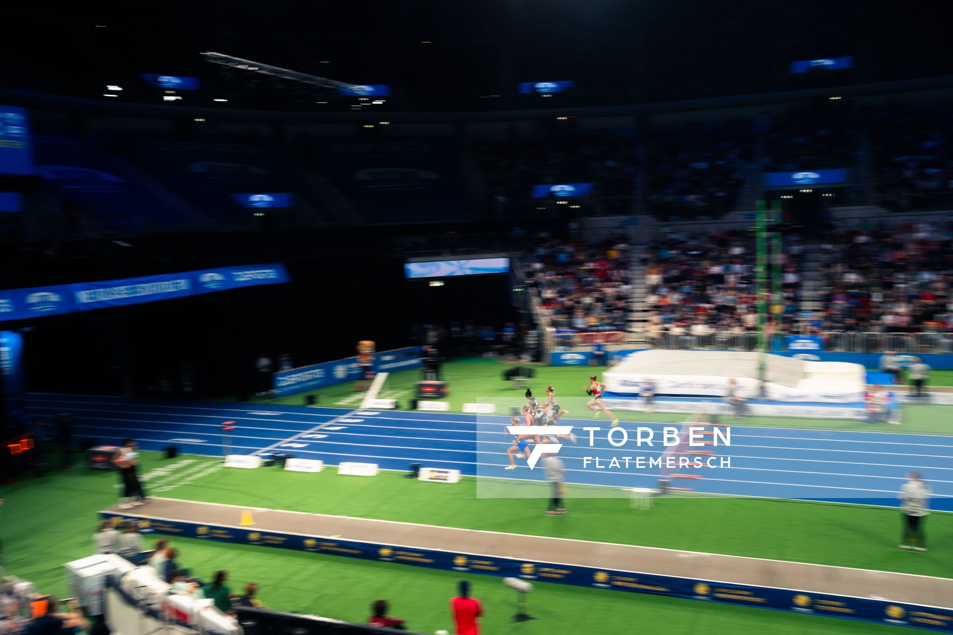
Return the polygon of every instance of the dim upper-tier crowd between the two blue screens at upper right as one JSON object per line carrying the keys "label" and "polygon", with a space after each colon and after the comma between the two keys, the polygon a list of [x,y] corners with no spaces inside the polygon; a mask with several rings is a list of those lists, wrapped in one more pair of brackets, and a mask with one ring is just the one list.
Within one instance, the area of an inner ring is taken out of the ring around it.
{"label": "dim upper-tier crowd between the two blue screens at upper right", "polygon": [[784,112],[764,136],[765,169],[846,168],[857,146],[849,121],[842,109],[827,105]]}

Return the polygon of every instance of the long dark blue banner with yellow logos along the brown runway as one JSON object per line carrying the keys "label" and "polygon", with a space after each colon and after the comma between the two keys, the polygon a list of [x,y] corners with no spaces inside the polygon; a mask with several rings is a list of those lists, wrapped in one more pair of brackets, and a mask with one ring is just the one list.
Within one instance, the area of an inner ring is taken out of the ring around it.
{"label": "long dark blue banner with yellow logos along the brown runway", "polygon": [[239,545],[276,546],[361,560],[424,566],[445,571],[518,577],[532,582],[651,593],[731,605],[761,606],[864,622],[953,632],[953,610],[933,606],[826,595],[771,586],[737,585],[637,571],[558,565],[463,551],[436,551],[339,538],[329,539],[323,536],[305,536],[257,528],[147,520],[132,514],[100,512],[100,515],[105,519],[129,520],[137,523],[139,530],[143,533],[163,533]]}

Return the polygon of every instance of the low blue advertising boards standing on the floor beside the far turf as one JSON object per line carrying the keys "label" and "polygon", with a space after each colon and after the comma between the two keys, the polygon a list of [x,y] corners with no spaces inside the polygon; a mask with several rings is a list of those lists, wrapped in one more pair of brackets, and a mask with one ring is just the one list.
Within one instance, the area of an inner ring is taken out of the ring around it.
{"label": "low blue advertising boards standing on the floor beside the far turf", "polygon": [[[376,372],[393,372],[419,368],[422,354],[423,347],[396,348],[375,353],[374,369]],[[295,392],[353,382],[359,378],[360,367],[357,366],[357,358],[348,357],[334,362],[275,372],[272,375],[272,386],[279,397],[284,397],[293,395]]]}

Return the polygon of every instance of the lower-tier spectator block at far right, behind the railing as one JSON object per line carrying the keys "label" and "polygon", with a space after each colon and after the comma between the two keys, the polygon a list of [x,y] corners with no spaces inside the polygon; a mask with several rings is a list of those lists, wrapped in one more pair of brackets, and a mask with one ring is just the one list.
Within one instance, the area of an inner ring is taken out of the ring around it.
{"label": "lower-tier spectator block at far right, behind the railing", "polygon": [[953,331],[953,231],[948,223],[828,234],[818,331]]}

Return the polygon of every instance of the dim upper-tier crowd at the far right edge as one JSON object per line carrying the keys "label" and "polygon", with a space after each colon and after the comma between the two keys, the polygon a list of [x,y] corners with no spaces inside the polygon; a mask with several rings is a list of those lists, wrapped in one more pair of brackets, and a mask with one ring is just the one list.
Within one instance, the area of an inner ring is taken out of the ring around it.
{"label": "dim upper-tier crowd at the far right edge", "polygon": [[896,106],[868,113],[883,205],[949,204],[953,193],[953,105]]}

